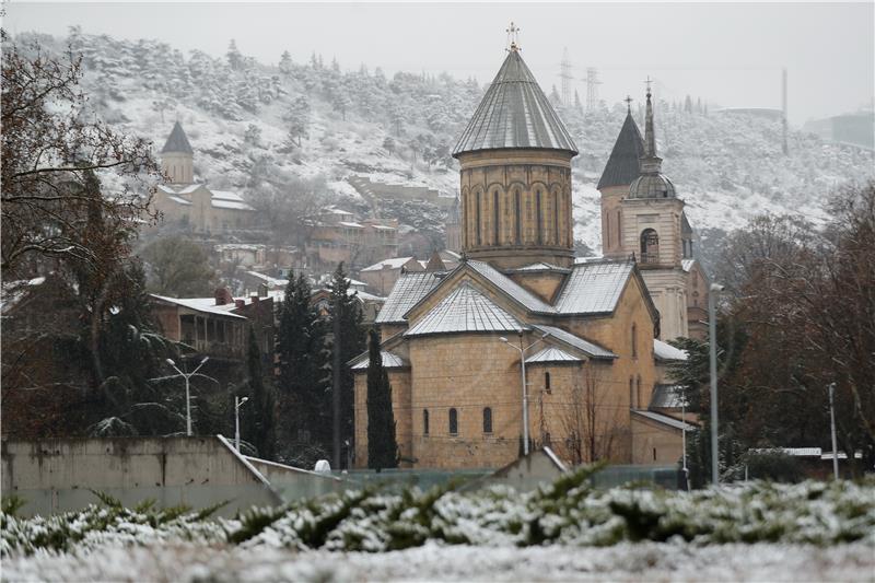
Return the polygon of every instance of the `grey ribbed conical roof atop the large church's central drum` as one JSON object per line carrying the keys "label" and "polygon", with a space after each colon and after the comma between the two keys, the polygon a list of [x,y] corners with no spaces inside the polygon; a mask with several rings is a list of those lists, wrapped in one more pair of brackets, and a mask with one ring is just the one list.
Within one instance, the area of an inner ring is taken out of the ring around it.
{"label": "grey ribbed conical roof atop the large church's central drum", "polygon": [[453,149],[453,155],[504,148],[578,153],[578,147],[523,62],[516,45],[511,45],[508,58]]}

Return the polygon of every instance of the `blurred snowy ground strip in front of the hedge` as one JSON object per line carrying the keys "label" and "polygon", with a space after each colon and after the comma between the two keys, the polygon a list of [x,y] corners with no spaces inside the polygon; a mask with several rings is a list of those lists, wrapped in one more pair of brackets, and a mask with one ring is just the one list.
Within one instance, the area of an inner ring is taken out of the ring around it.
{"label": "blurred snowy ground strip in front of the hedge", "polygon": [[875,548],[621,544],[424,547],[363,553],[267,547],[103,547],[7,558],[3,581],[875,581]]}

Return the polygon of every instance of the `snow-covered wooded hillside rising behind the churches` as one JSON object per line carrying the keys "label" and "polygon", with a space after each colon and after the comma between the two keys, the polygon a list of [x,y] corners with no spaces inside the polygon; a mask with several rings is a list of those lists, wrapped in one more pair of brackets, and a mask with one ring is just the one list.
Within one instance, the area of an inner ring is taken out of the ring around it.
{"label": "snow-covered wooded hillside rising behind the churches", "polygon": [[[18,42],[34,38],[19,35]],[[294,178],[314,177],[325,180],[329,198],[358,198],[346,182],[351,175],[452,195],[457,165],[450,152],[485,90],[448,74],[387,79],[380,68],[364,66],[342,72],[337,62],[325,63],[316,55],[287,53],[277,56],[278,63],[260,63],[233,42],[226,57],[217,59],[200,51],[184,55],[155,40],[117,40],[78,30],[67,38],[39,35],[38,40],[57,51],[69,45],[82,55],[83,84],[108,123],[148,137],[158,152],[179,119],[196,150],[197,178],[249,198],[259,189],[293,196]],[[494,58],[495,70],[501,65],[500,57],[482,58]],[[595,184],[626,105],[587,113],[556,106],[580,149],[575,237],[597,250]],[[640,106],[635,113],[641,119]],[[791,130],[784,155],[780,121],[709,114],[707,105],[657,101],[656,132],[664,172],[700,230],[730,231],[766,211],[820,219],[830,189],[873,176],[873,152]]]}

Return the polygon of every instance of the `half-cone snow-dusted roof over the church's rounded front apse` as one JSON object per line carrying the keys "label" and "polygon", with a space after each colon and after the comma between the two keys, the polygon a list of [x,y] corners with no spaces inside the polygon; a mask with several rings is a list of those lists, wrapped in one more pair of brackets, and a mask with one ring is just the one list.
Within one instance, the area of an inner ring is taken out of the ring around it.
{"label": "half-cone snow-dusted roof over the church's rounded front apse", "polygon": [[405,336],[523,329],[526,326],[518,319],[495,305],[470,283],[463,281],[407,330]]}

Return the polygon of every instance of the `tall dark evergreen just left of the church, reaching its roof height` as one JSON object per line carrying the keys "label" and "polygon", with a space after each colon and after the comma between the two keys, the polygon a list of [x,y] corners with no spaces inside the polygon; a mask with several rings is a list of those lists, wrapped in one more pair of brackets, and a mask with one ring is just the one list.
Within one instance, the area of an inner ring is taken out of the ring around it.
{"label": "tall dark evergreen just left of the church, reaching its roof height", "polygon": [[[353,446],[353,385],[352,371],[347,365],[353,357],[365,349],[365,333],[362,326],[362,311],[355,292],[349,293],[349,278],[339,264],[331,280],[329,330],[331,330],[331,374],[339,375],[340,384],[340,444],[349,442]],[[335,330],[340,330],[339,337]],[[339,370],[335,366],[339,363]],[[334,384],[331,387],[334,390]],[[334,394],[331,395],[334,401]]]}

